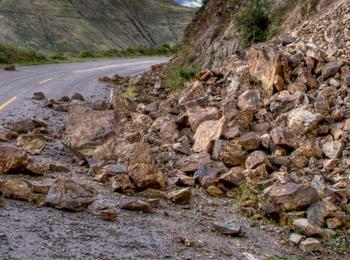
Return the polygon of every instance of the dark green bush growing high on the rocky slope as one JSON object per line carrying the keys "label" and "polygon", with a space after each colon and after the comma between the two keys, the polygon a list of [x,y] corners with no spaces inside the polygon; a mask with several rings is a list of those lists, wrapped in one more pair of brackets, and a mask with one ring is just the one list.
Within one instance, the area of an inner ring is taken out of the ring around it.
{"label": "dark green bush growing high on the rocky slope", "polygon": [[248,0],[235,16],[241,41],[244,47],[263,42],[269,35],[269,0]]}

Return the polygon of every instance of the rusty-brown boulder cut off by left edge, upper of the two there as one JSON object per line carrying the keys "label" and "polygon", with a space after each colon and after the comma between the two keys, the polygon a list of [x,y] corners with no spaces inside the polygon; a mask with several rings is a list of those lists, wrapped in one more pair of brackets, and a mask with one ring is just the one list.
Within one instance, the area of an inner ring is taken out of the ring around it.
{"label": "rusty-brown boulder cut off by left edge, upper of the two there", "polygon": [[28,156],[23,149],[0,147],[0,174],[21,170],[28,163]]}

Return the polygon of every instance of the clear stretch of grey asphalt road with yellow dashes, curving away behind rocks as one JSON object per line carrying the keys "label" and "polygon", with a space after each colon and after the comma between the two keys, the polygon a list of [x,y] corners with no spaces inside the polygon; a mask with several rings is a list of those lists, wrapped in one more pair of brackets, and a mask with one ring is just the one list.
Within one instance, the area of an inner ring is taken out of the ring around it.
{"label": "clear stretch of grey asphalt road with yellow dashes, curving away behind rocks", "polygon": [[167,58],[114,59],[20,67],[15,72],[0,71],[0,121],[32,111],[29,100],[35,92],[41,91],[47,98],[70,96],[75,92],[86,98],[97,98],[107,95],[99,77],[138,74],[167,61]]}

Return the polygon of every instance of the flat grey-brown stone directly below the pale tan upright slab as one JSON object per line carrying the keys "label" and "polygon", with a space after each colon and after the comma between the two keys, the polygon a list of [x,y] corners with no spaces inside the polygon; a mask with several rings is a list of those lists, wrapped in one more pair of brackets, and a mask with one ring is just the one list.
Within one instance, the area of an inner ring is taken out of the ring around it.
{"label": "flat grey-brown stone directly below the pale tan upright slab", "polygon": [[207,153],[194,153],[187,157],[181,157],[176,162],[176,167],[183,172],[195,172],[200,165],[212,163],[210,155]]}

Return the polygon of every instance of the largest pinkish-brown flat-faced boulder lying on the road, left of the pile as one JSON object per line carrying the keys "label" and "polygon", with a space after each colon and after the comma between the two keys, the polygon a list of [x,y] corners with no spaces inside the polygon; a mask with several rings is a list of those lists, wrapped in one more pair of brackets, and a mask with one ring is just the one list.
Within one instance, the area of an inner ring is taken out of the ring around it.
{"label": "largest pinkish-brown flat-faced boulder lying on the road, left of the pile", "polygon": [[117,119],[113,111],[93,111],[76,105],[69,113],[64,145],[81,159],[110,159],[117,135]]}

